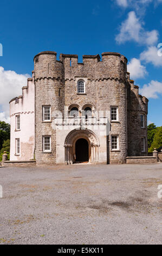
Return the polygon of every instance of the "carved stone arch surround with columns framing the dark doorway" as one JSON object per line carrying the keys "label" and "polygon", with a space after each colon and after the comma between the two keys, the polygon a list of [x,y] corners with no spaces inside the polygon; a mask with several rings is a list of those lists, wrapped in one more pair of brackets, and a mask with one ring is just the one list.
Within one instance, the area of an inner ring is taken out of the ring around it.
{"label": "carved stone arch surround with columns framing the dark doorway", "polygon": [[64,141],[64,161],[67,164],[75,162],[75,143],[78,139],[84,138],[89,145],[89,162],[99,161],[99,140],[91,130],[74,129],[70,131]]}

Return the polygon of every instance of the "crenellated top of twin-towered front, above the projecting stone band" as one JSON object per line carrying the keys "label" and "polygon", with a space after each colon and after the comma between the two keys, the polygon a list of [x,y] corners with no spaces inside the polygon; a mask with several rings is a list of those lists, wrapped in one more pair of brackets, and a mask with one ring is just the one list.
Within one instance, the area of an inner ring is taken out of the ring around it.
{"label": "crenellated top of twin-towered front, above the projecting stone band", "polygon": [[89,80],[114,77],[126,80],[127,59],[120,53],[104,52],[100,61],[99,54],[83,55],[83,63],[78,63],[77,54],[60,54],[40,52],[34,57],[35,80],[51,77],[61,80],[86,76]]}

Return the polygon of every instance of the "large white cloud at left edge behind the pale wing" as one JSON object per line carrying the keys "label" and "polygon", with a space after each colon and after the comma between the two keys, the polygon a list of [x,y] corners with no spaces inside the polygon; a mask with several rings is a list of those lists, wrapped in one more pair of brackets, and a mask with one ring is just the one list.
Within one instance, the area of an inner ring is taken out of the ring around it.
{"label": "large white cloud at left edge behind the pale wing", "polygon": [[0,66],[0,120],[9,121],[9,101],[22,95],[22,86],[27,84],[30,75],[19,75],[15,71],[4,70]]}

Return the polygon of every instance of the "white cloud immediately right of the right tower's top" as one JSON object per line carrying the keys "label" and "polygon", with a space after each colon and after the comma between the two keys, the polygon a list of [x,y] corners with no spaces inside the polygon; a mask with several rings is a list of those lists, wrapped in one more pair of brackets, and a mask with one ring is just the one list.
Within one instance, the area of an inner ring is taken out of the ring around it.
{"label": "white cloud immediately right of the right tower's top", "polygon": [[132,79],[142,78],[147,75],[146,67],[141,65],[140,60],[136,58],[130,60],[127,69]]}

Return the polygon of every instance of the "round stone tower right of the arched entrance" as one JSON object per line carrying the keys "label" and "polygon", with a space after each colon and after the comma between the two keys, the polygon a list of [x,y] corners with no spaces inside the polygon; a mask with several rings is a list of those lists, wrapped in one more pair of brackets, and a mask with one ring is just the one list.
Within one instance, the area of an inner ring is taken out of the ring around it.
{"label": "round stone tower right of the arched entrance", "polygon": [[[107,162],[125,163],[127,156],[127,107],[126,107],[127,59],[120,53],[103,52],[102,61],[96,64],[98,88],[97,109],[106,109],[110,118],[107,135]],[[112,120],[112,107],[117,109],[117,119]],[[112,138],[118,139],[118,149],[112,150]]]}

